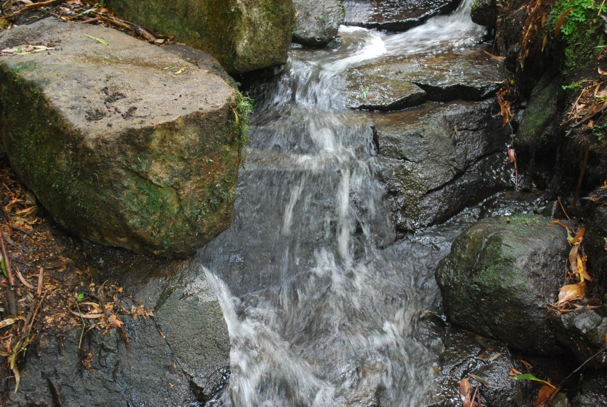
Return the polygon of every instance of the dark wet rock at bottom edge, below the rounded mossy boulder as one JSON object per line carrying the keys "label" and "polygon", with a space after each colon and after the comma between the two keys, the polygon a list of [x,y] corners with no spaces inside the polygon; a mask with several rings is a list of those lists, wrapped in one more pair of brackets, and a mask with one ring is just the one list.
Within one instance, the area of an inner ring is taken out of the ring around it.
{"label": "dark wet rock at bottom edge, below the rounded mossy boulder", "polygon": [[[511,380],[510,369],[526,372],[527,366],[498,341],[464,330],[448,329],[444,337],[440,370],[432,388],[421,403],[424,407],[461,405],[459,382],[476,375],[486,383],[470,378],[470,388],[479,386],[481,399],[488,406],[512,407],[534,403],[540,386],[530,381]],[[529,358],[527,358],[529,359]],[[563,372],[554,360],[531,360],[531,371],[537,377],[558,380]],[[488,384],[488,386],[487,386]]]}

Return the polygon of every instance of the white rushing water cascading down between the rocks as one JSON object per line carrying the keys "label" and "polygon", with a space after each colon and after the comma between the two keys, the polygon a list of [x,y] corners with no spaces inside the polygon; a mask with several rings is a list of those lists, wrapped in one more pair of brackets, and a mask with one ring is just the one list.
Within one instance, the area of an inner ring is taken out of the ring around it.
{"label": "white rushing water cascading down between the rocks", "polygon": [[472,46],[469,1],[404,33],[341,27],[292,49],[251,91],[253,145],[234,222],[200,252],[231,338],[225,406],[416,405],[441,340],[433,270],[469,219],[395,241],[368,114],[339,73],[373,58]]}

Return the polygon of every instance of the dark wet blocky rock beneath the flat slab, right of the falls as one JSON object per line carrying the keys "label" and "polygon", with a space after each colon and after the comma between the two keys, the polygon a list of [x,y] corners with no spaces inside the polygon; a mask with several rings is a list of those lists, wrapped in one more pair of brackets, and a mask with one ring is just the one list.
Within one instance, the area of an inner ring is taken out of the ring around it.
{"label": "dark wet blocky rock beneath the flat slab, right of the falls", "polygon": [[399,230],[448,219],[466,205],[510,188],[504,163],[507,131],[497,103],[427,103],[374,116],[380,177]]}

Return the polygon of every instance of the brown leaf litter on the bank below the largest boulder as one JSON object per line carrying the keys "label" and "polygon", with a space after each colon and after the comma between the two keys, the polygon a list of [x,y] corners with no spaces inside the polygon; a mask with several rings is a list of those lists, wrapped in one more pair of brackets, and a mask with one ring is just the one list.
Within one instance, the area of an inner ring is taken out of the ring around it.
{"label": "brown leaf litter on the bank below the largest boulder", "polygon": [[[12,377],[16,392],[21,360],[45,330],[63,337],[77,329],[82,335],[91,330],[104,335],[109,329],[118,329],[128,343],[124,317],[153,318],[154,313],[141,305],[125,309],[121,299],[126,295],[121,287],[97,282],[100,270],[90,267],[80,242],[67,238],[38,210],[31,192],[4,161],[0,161],[0,191],[0,229],[7,246],[7,259],[0,257],[0,264],[11,264],[18,277],[14,281],[16,313],[8,315],[5,301],[0,302],[4,314],[0,321],[0,355],[5,357],[0,377]],[[3,300],[11,291],[6,268],[2,267],[0,274]],[[87,352],[83,348],[85,367]]]}

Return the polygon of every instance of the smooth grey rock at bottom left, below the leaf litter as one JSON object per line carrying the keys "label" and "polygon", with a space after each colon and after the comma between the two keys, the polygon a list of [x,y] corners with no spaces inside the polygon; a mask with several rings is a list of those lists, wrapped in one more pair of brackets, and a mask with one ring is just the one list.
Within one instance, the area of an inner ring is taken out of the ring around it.
{"label": "smooth grey rock at bottom left, below the leaf litter", "polygon": [[129,344],[116,328],[86,332],[83,349],[80,328],[63,338],[42,332],[19,366],[21,384],[8,406],[186,406],[225,385],[228,329],[200,262],[108,250],[93,257],[121,276],[122,307],[152,307],[154,316],[120,317]]}

